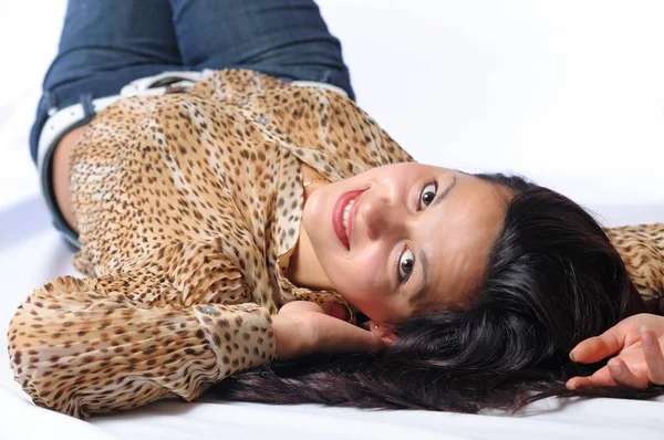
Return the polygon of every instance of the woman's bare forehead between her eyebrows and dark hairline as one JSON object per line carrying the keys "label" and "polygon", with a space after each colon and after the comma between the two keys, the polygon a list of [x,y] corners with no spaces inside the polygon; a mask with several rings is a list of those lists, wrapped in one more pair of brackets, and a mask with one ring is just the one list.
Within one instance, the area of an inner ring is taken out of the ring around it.
{"label": "woman's bare forehead between her eyebrows and dark hairline", "polygon": [[[426,214],[422,247],[428,255],[428,283],[422,306],[466,305],[481,283],[487,259],[502,228],[510,193],[475,176],[448,171],[454,190]],[[447,185],[443,182],[443,185]]]}

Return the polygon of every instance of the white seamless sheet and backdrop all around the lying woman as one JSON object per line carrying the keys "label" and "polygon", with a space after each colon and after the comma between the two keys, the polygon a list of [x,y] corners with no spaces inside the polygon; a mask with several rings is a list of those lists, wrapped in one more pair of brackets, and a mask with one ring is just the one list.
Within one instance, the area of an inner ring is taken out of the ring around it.
{"label": "white seamless sheet and backdrop all around the lying woman", "polygon": [[[75,274],[28,157],[39,85],[64,0],[0,3],[0,346],[19,302]],[[508,169],[569,195],[606,224],[664,221],[664,3],[322,0],[360,104],[414,156]],[[662,438],[664,406],[542,402],[520,417],[203,400],[82,422],[32,406],[0,350],[0,438]],[[538,410],[539,408],[539,410]]]}

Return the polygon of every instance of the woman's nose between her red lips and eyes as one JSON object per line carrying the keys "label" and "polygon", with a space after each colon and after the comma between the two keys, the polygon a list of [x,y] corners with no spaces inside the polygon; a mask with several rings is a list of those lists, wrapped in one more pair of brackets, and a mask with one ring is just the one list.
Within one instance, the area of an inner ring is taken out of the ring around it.
{"label": "woman's nose between her red lips and eyes", "polygon": [[362,217],[370,240],[396,232],[403,227],[403,212],[392,203],[387,195],[366,191],[357,208],[356,216]]}

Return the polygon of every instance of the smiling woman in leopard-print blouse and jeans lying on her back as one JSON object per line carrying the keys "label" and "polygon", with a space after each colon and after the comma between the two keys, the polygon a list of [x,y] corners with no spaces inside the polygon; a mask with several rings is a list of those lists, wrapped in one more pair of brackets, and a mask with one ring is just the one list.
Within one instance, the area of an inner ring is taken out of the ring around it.
{"label": "smiling woman in leopard-print blouse and jeans lying on her back", "polygon": [[664,224],[603,230],[521,177],[415,163],[353,102],[315,4],[279,3],[69,2],[31,148],[86,277],[11,319],[33,401],[662,394]]}

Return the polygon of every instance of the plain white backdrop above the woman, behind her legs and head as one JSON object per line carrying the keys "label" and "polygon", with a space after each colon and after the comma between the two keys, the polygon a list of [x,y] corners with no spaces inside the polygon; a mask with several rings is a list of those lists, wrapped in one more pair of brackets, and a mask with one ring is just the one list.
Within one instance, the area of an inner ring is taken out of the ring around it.
{"label": "plain white backdrop above the woman, behind her legs and head", "polygon": [[[526,174],[580,202],[664,201],[661,0],[321,0],[359,103],[422,161]],[[0,4],[2,188],[63,0]]]}

